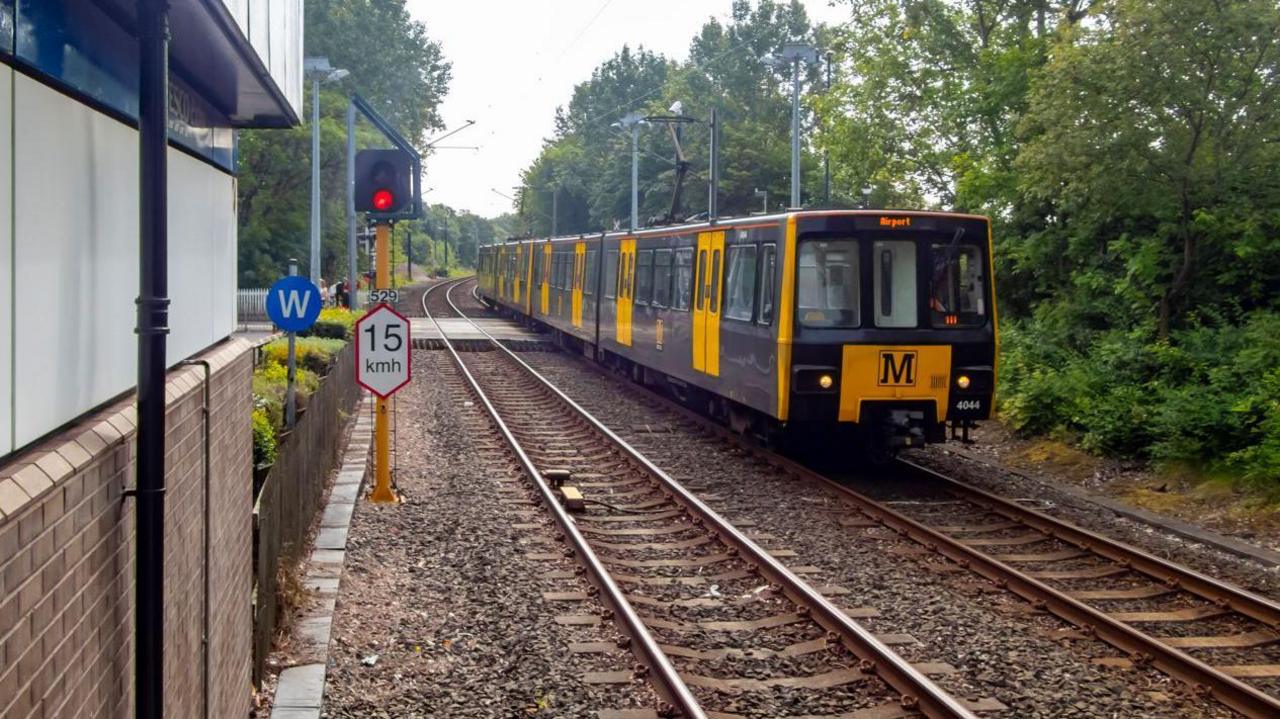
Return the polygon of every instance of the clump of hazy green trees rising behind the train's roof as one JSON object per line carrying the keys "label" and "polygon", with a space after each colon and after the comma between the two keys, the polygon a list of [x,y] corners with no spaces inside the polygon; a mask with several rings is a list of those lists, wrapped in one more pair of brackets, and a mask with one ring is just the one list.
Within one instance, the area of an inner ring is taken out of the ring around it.
{"label": "clump of hazy green trees rising behind the train's roof", "polygon": [[[518,229],[547,235],[626,226],[631,216],[631,133],[613,127],[631,111],[671,115],[680,101],[686,116],[701,120],[681,129],[690,171],[680,215],[704,211],[708,141],[705,120],[716,109],[722,127],[719,207],[724,214],[760,209],[758,188],[778,209],[790,192],[790,69],[760,59],[786,42],[814,42],[800,3],[736,0],[727,23],[712,19],[691,40],[689,60],[676,63],[643,47],[623,46],[573,88],[557,113],[556,136],[525,169],[517,201]],[[808,68],[806,87],[818,87],[820,69]],[[805,124],[813,118],[805,111]],[[666,125],[639,132],[640,221],[671,211],[675,147]],[[804,152],[805,197],[820,197],[817,155]],[[553,193],[556,194],[553,202]],[[553,209],[554,205],[554,209]]]}

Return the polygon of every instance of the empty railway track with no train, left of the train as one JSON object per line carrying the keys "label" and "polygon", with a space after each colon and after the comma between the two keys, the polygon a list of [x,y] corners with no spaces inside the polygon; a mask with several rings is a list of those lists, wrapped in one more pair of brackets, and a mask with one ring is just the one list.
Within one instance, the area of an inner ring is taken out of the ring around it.
{"label": "empty railway track with no train, left of the train", "polygon": [[[430,297],[443,288],[461,315],[451,298],[461,284],[429,289],[424,313],[434,319]],[[552,513],[564,551],[630,637],[637,674],[667,702],[662,713],[974,716],[925,676],[927,667],[904,660],[489,339],[490,351],[466,360],[448,340],[444,347]],[[582,491],[584,512],[571,516],[562,505],[561,495],[573,496],[559,487],[566,480]]]}

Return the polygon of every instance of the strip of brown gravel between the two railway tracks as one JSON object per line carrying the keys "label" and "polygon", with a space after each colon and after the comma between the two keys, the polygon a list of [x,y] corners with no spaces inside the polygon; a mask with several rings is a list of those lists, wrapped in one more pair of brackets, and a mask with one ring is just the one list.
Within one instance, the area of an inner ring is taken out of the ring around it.
{"label": "strip of brown gravel between the two railway tracks", "polygon": [[[914,661],[947,661],[957,672],[938,677],[956,696],[993,696],[1018,718],[1233,716],[1221,705],[1192,696],[1183,684],[1149,669],[1117,670],[1091,663],[1114,656],[1101,642],[1055,640],[1065,624],[1032,614],[1012,595],[966,572],[938,573],[906,557],[906,546],[876,532],[842,527],[838,500],[787,478],[718,438],[690,431],[689,421],[566,354],[526,353],[544,372],[605,425],[658,466],[708,500],[730,521],[753,521],[795,550],[792,564],[814,564],[815,585],[850,591],[846,606],[870,606],[863,619],[879,633],[909,633],[918,644],[897,647]],[[673,427],[676,431],[663,431]],[[658,430],[658,431],[654,431]],[[936,558],[931,558],[936,560]]]}

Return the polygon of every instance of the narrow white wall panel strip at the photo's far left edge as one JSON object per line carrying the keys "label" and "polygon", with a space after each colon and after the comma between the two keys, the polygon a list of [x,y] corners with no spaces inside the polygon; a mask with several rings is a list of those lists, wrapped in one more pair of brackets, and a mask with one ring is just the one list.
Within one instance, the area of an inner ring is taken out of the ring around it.
{"label": "narrow white wall panel strip at the photo's far left edge", "polygon": [[0,454],[13,450],[13,69],[0,65]]}

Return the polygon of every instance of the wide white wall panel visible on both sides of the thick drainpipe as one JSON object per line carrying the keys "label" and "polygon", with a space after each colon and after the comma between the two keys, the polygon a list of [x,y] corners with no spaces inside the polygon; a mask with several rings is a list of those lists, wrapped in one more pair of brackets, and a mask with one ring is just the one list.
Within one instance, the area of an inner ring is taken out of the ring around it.
{"label": "wide white wall panel visible on both sides of the thick drainpipe", "polygon": [[[14,78],[22,446],[134,385],[138,145],[134,129]],[[169,365],[234,329],[234,202],[229,175],[169,150]],[[8,293],[0,307],[9,307]]]}

